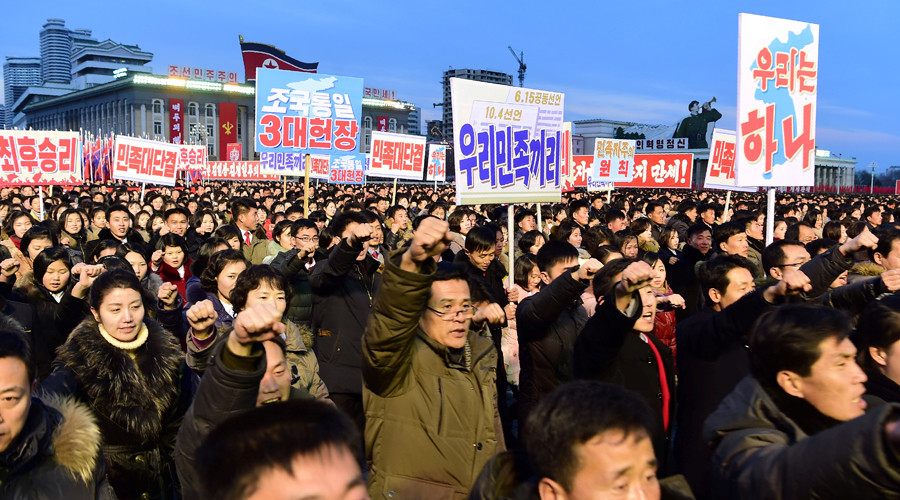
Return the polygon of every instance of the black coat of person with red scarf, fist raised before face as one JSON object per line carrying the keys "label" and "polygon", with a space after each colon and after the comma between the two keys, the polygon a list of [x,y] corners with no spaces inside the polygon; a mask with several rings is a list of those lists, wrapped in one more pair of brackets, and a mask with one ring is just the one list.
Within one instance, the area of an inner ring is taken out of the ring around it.
{"label": "black coat of person with red scarf, fist raised before face", "polygon": [[[644,398],[657,422],[652,435],[653,447],[660,470],[665,471],[669,436],[675,422],[675,363],[672,350],[655,335],[644,334],[645,342],[634,331],[634,323],[640,317],[642,307],[640,296],[635,294],[628,307],[629,313],[624,314],[616,308],[615,291],[606,296],[575,341],[575,376],[620,385]],[[659,365],[647,342],[653,342],[663,361],[670,397],[668,431],[663,426]],[[666,475],[665,472],[662,475]]]}

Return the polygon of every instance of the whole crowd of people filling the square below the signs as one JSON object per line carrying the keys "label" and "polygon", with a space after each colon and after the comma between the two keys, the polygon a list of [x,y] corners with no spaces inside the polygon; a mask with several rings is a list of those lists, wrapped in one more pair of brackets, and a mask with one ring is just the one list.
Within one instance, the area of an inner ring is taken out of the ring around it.
{"label": "whole crowd of people filling the square below the signs", "polygon": [[894,198],[42,189],[2,498],[900,497]]}

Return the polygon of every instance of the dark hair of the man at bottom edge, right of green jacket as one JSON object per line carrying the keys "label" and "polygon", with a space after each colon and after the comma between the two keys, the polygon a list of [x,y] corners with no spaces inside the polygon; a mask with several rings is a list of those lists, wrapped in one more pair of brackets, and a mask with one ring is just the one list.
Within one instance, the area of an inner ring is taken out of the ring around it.
{"label": "dark hair of the man at bottom edge, right of green jacket", "polygon": [[653,415],[637,394],[613,384],[579,380],[548,394],[525,421],[524,445],[538,478],[571,491],[582,468],[577,449],[607,431],[649,439]]}

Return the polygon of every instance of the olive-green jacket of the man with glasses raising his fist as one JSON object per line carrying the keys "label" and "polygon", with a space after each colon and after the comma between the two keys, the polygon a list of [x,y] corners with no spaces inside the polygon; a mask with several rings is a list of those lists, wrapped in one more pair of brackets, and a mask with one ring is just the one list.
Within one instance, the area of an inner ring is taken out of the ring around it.
{"label": "olive-green jacket of the man with glasses raising his fist", "polygon": [[484,464],[505,449],[497,351],[489,336],[470,331],[463,361],[452,362],[419,328],[435,264],[410,273],[397,267],[399,256],[388,259],[363,337],[369,494],[467,498]]}

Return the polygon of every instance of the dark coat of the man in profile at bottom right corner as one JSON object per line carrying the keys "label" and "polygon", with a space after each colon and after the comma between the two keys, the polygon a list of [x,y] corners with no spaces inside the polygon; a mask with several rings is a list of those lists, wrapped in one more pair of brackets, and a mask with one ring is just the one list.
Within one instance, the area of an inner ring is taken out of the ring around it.
{"label": "dark coat of the man in profile at bottom right corner", "polygon": [[808,436],[747,377],[704,426],[714,450],[713,497],[898,498],[900,454],[884,432],[898,416],[900,406],[883,405]]}

